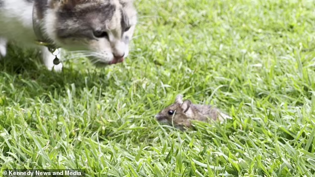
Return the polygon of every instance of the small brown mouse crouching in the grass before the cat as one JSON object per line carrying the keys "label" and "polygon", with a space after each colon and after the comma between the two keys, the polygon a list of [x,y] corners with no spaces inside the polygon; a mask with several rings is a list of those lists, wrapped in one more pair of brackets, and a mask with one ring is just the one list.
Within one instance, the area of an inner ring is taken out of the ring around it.
{"label": "small brown mouse crouching in the grass before the cat", "polygon": [[177,95],[175,103],[160,111],[156,118],[159,123],[173,125],[184,130],[185,127],[191,127],[190,120],[223,121],[231,117],[211,105],[195,105],[190,100],[183,101],[182,95]]}

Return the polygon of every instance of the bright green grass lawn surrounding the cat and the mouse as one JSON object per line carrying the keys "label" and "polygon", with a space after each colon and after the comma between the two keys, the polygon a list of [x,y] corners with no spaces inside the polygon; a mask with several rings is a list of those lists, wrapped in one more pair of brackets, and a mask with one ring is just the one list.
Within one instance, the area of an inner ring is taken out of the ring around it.
{"label": "bright green grass lawn surrounding the cat and the mouse", "polygon": [[[0,172],[90,177],[315,176],[312,0],[137,0],[123,64],[1,61]],[[185,132],[154,116],[181,93],[233,120]],[[0,173],[1,174],[1,173]],[[0,175],[1,176],[1,175]]]}

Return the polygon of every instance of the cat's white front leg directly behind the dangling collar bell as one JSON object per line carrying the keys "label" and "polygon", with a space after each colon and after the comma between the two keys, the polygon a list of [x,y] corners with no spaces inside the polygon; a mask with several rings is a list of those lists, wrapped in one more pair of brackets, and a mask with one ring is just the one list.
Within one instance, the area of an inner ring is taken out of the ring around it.
{"label": "cat's white front leg directly behind the dangling collar bell", "polygon": [[[49,70],[61,71],[62,63],[57,65],[54,64],[55,56],[48,50],[47,47],[42,47],[42,57],[44,64]],[[58,59],[61,59],[61,49],[59,49],[59,54],[57,55]]]}

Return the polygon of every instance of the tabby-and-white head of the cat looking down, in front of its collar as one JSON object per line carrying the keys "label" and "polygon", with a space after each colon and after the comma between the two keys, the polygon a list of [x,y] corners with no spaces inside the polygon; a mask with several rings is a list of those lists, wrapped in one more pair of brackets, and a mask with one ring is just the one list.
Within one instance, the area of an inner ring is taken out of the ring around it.
{"label": "tabby-and-white head of the cat looking down, in front of its collar", "polygon": [[96,65],[122,62],[137,23],[133,0],[49,0],[45,31],[69,51],[90,51]]}

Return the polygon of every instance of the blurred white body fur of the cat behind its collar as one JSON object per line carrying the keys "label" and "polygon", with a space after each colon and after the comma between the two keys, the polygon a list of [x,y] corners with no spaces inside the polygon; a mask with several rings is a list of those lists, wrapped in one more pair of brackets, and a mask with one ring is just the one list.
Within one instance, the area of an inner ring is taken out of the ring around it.
{"label": "blurred white body fur of the cat behind its collar", "polygon": [[32,0],[0,0],[0,36],[19,45],[35,45],[32,13]]}

